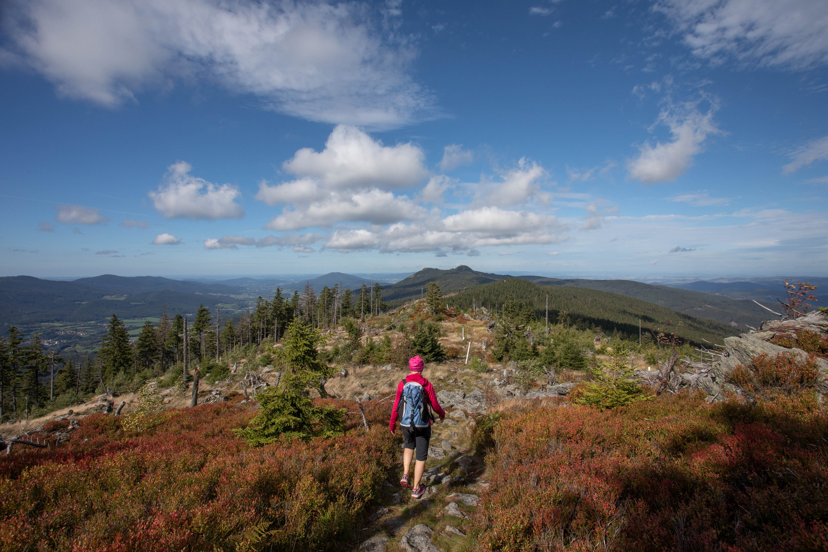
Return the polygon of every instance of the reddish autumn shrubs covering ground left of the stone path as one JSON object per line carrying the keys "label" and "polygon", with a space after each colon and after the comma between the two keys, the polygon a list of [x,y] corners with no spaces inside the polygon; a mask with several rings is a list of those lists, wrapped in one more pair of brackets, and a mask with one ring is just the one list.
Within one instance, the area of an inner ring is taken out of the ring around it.
{"label": "reddish autumn shrubs covering ground left of the stone path", "polygon": [[0,458],[0,550],[300,551],[353,541],[396,460],[385,425],[252,449],[232,430],[253,414],[232,401],[202,405],[168,411],[142,433],[92,415],[68,444]]}

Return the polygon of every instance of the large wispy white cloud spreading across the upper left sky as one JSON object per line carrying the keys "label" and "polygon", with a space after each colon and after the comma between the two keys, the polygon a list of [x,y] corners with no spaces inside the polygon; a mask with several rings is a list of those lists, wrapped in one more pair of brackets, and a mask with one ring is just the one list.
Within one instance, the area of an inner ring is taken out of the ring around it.
{"label": "large wispy white cloud spreading across the upper left sky", "polygon": [[407,72],[415,50],[374,13],[359,2],[12,0],[2,53],[60,94],[110,107],[206,79],[311,121],[388,128],[433,117]]}

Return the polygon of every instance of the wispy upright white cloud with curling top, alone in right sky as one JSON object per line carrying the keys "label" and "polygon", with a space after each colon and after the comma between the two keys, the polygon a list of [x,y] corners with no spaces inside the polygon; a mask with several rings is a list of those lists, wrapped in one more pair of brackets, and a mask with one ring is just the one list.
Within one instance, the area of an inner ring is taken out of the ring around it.
{"label": "wispy upright white cloud with curling top, alone in right sky", "polygon": [[693,156],[702,151],[702,143],[710,134],[720,132],[713,122],[715,104],[702,113],[697,104],[685,104],[680,108],[663,110],[657,124],[670,128],[672,142],[648,142],[640,146],[638,158],[629,161],[631,178],[644,184],[657,184],[676,180],[693,164]]}

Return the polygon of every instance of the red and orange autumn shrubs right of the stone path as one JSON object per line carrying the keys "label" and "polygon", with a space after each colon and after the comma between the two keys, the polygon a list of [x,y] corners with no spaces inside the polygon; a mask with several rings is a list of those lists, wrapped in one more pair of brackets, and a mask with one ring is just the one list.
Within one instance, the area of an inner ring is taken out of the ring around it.
{"label": "red and orange autumn shrubs right of the stone path", "polygon": [[828,416],[812,365],[759,358],[735,377],[749,400],[504,417],[481,550],[826,550]]}

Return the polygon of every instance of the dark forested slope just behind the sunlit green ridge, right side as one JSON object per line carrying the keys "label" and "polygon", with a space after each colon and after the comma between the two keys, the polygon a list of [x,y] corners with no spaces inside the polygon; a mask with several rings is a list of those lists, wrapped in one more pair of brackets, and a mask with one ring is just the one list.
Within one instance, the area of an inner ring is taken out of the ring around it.
{"label": "dark forested slope just behind the sunlit green ridge, right side", "polygon": [[[697,291],[681,290],[675,287],[652,286],[632,280],[558,280],[545,276],[517,276],[544,286],[575,286],[590,290],[609,291],[667,307],[683,314],[715,320],[721,324],[748,331],[747,326],[758,328],[768,319],[767,310],[751,300],[732,299],[719,295],[701,294]],[[768,303],[771,308],[773,305]]]}

